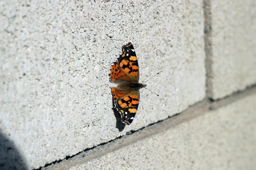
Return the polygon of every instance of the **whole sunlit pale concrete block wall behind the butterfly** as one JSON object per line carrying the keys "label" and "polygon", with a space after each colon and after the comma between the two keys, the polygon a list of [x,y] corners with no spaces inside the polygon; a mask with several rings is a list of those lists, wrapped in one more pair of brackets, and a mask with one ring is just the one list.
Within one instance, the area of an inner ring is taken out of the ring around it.
{"label": "whole sunlit pale concrete block wall behind the butterfly", "polygon": [[[214,117],[186,119],[170,130],[157,128],[162,127],[159,121],[173,119],[178,113],[185,115],[185,109],[207,101],[206,96],[223,98],[256,83],[255,3],[249,0],[222,3],[219,6],[217,1],[197,0],[1,1],[1,166],[61,169],[62,165],[70,164],[66,159],[78,154],[68,159],[73,162],[70,169],[145,168],[138,165],[139,162],[158,168],[156,161],[160,157],[163,169],[193,167],[191,163],[195,160],[187,161],[195,157],[196,148],[189,150],[186,142],[191,140],[190,145],[194,145],[196,138],[193,136],[198,136],[201,146],[207,147],[205,140],[210,141],[212,137],[208,132],[215,125],[225,124],[234,111],[233,105],[226,104],[227,110],[218,108],[215,114],[199,109],[197,112]],[[138,57],[140,82],[160,72],[147,82],[148,88],[160,96],[140,90],[136,117],[131,125],[124,126],[116,122],[111,109],[109,87],[114,84],[109,82],[108,74],[121,53],[121,46],[128,42],[133,43]],[[251,100],[254,98],[250,96]],[[248,128],[253,128],[255,118],[250,113],[255,107],[249,102],[247,110],[240,108],[247,100],[246,96],[238,100],[236,109],[251,116]],[[227,113],[223,116],[224,112]],[[208,126],[212,120],[216,124]],[[247,120],[235,117],[230,120],[230,124],[237,122],[234,128],[238,135],[243,133]],[[151,127],[150,124],[159,131],[129,143],[131,138],[127,136],[131,135],[128,134],[139,135],[140,129]],[[230,128],[230,124],[225,128]],[[220,130],[214,129],[212,135],[218,137]],[[222,133],[225,140],[232,141],[230,131]],[[185,138],[186,134],[191,135]],[[252,131],[248,132],[251,134]],[[108,146],[117,138],[126,141],[125,145],[115,143],[119,149],[106,153],[99,147],[94,148],[100,144]],[[211,142],[213,147],[220,145]],[[170,147],[172,145],[177,148]],[[234,148],[239,145],[239,141],[230,147],[224,143],[222,147],[230,152],[223,156],[232,162],[237,158],[232,154]],[[245,140],[245,145],[247,150],[239,150],[238,154],[256,153],[249,139]],[[203,153],[201,146],[197,147],[200,154]],[[91,155],[84,152],[88,149],[93,150]],[[125,156],[118,159],[121,153]],[[216,167],[220,167],[217,153],[211,154],[207,161],[213,160]],[[159,158],[154,160],[153,155]],[[134,159],[129,160],[130,157]],[[183,158],[186,159],[178,167],[176,162]],[[203,158],[198,157],[195,169],[210,166],[210,163],[199,166]],[[240,164],[230,167],[239,169],[243,160],[244,157]],[[247,162],[247,167],[252,167],[252,161]]]}

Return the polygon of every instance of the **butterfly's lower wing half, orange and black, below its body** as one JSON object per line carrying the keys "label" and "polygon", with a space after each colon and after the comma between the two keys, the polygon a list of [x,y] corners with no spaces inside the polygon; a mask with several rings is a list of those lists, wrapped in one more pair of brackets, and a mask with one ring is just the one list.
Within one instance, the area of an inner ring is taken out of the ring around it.
{"label": "butterfly's lower wing half, orange and black, below its body", "polygon": [[130,125],[139,106],[139,90],[131,91],[111,88],[111,93],[114,100],[114,108],[120,113],[121,121]]}

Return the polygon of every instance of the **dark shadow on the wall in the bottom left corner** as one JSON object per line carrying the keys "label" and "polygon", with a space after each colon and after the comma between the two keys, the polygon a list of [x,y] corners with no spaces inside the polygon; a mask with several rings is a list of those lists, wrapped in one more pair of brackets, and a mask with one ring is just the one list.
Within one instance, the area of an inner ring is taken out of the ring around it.
{"label": "dark shadow on the wall in the bottom left corner", "polygon": [[0,129],[0,169],[13,170],[21,169],[26,170],[27,166],[24,158],[21,156],[19,150],[12,141],[3,135]]}

